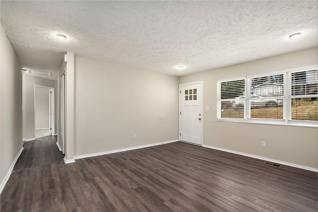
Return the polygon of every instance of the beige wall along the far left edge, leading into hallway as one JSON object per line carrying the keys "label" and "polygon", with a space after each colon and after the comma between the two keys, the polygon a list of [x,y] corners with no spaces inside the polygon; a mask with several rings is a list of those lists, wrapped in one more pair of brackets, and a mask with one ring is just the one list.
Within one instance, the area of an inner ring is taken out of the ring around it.
{"label": "beige wall along the far left edge, leading into hallway", "polygon": [[0,24],[0,183],[22,147],[22,68]]}

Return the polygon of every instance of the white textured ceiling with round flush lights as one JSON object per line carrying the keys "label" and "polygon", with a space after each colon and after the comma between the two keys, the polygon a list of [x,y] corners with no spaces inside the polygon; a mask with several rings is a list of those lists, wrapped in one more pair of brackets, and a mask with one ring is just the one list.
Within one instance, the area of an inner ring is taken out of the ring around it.
{"label": "white textured ceiling with round flush lights", "polygon": [[[1,0],[0,9],[6,35],[29,70],[56,71],[70,51],[180,76],[316,47],[317,4]],[[296,32],[303,36],[290,40]],[[58,40],[59,33],[68,39]]]}

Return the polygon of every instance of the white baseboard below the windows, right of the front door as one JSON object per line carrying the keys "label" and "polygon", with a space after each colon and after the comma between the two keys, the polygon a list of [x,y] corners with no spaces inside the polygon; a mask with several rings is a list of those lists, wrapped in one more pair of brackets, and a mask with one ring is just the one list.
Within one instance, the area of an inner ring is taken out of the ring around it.
{"label": "white baseboard below the windows, right of the front door", "polygon": [[286,166],[291,166],[291,167],[295,167],[295,168],[300,168],[300,169],[305,169],[305,170],[309,170],[309,171],[318,172],[318,169],[312,168],[312,167],[309,167],[309,166],[298,165],[298,164],[294,164],[294,163],[289,163],[289,162],[285,162],[285,161],[275,160],[275,159],[271,159],[271,158],[267,158],[267,157],[257,156],[257,155],[254,155],[254,154],[247,154],[247,153],[244,153],[244,152],[239,152],[239,151],[234,151],[234,150],[230,150],[230,149],[219,148],[219,147],[205,145],[205,144],[203,144],[202,146],[206,147],[206,148],[216,149],[216,150],[220,150],[220,151],[226,151],[226,152],[239,154],[239,155],[243,155],[243,156],[247,156],[247,157],[252,157],[252,158],[256,158],[256,159],[260,159],[260,160],[270,161],[270,162],[273,162],[273,163],[279,163],[279,164],[286,165]]}

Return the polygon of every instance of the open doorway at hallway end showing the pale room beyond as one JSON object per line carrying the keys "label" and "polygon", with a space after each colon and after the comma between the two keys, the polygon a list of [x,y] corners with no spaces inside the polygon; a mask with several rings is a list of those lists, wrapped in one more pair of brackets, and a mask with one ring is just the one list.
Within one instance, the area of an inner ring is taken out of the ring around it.
{"label": "open doorway at hallway end showing the pale room beyond", "polygon": [[55,135],[55,89],[34,85],[35,138]]}

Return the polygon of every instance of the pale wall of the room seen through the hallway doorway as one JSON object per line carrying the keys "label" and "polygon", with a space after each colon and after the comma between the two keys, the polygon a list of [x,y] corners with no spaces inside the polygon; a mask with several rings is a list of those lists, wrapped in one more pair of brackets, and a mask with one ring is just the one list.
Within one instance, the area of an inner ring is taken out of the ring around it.
{"label": "pale wall of the room seen through the hallway doorway", "polygon": [[36,129],[49,129],[50,88],[35,87],[35,119]]}

